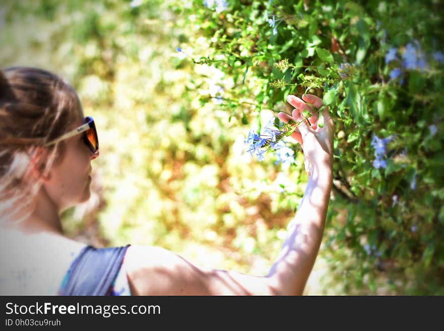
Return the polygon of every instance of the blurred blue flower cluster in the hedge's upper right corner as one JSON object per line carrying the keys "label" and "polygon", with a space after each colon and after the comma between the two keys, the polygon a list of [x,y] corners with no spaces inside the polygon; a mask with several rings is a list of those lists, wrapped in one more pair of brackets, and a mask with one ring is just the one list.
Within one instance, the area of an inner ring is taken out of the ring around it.
{"label": "blurred blue flower cluster in the hedge's upper right corner", "polygon": [[[405,70],[419,70],[424,71],[428,69],[428,63],[424,52],[421,49],[421,45],[417,40],[407,43],[405,45],[404,52],[399,58],[398,49],[391,47],[385,53],[385,64],[390,64],[392,61],[396,61],[400,64],[390,71],[390,79],[400,78],[400,82],[403,81],[403,73]],[[432,58],[436,62],[444,62],[444,54],[440,51],[432,53]]]}

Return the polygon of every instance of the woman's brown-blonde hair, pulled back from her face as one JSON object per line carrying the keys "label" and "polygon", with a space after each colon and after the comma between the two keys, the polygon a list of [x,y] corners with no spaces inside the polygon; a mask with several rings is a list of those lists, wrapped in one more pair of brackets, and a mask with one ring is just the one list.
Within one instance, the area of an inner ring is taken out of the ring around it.
{"label": "woman's brown-blonde hair, pulled back from her face", "polygon": [[[64,142],[43,146],[70,129],[79,107],[74,89],[54,74],[26,67],[0,71],[0,222],[32,213],[42,177],[65,151]],[[36,167],[37,180],[31,176]]]}

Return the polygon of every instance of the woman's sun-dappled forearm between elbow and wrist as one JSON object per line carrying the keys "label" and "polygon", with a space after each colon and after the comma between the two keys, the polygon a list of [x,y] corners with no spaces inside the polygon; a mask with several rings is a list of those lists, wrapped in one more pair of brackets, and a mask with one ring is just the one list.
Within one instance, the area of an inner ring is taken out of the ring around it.
{"label": "woman's sun-dappled forearm between elbow and wrist", "polygon": [[313,169],[289,234],[268,278],[278,294],[302,294],[316,259],[331,190],[331,167]]}

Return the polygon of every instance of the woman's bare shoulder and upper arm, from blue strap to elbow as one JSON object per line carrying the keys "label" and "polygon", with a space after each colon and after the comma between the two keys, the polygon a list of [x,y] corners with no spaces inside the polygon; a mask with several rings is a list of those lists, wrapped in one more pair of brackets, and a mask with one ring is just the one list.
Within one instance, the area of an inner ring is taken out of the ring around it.
{"label": "woman's bare shoulder and upper arm, from blue strap to elbow", "polygon": [[124,265],[135,295],[273,294],[266,277],[202,268],[160,247],[130,246]]}

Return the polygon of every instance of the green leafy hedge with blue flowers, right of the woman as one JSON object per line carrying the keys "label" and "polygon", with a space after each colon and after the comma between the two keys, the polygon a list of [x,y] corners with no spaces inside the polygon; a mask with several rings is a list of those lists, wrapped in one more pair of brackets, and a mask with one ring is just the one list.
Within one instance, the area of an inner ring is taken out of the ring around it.
{"label": "green leafy hedge with blue flowers, right of the woman", "polygon": [[[290,93],[314,93],[329,105],[334,189],[321,256],[346,293],[444,294],[442,7],[278,0],[173,7],[196,27],[182,50],[196,66],[224,73],[217,95],[202,102],[218,97],[245,134],[260,132],[264,109],[285,110]],[[193,45],[202,37],[200,57]],[[275,159],[269,153],[263,162]]]}

